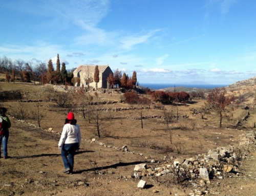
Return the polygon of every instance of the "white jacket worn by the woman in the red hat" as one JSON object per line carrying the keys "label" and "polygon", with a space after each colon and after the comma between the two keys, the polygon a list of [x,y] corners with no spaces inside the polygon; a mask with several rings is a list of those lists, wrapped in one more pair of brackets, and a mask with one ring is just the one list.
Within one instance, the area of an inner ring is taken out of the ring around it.
{"label": "white jacket worn by the woman in the red hat", "polygon": [[78,124],[71,125],[65,124],[62,129],[62,133],[59,139],[58,146],[62,146],[63,144],[73,144],[77,143],[80,146],[81,143],[81,131],[80,126]]}

